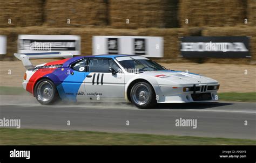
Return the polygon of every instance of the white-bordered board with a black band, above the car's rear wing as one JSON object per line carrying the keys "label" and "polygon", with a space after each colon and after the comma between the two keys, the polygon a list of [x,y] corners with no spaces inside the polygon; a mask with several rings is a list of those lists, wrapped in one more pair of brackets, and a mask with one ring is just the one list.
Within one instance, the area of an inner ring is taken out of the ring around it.
{"label": "white-bordered board with a black band, above the car's rear wing", "polygon": [[18,53],[69,52],[80,55],[80,36],[19,35]]}

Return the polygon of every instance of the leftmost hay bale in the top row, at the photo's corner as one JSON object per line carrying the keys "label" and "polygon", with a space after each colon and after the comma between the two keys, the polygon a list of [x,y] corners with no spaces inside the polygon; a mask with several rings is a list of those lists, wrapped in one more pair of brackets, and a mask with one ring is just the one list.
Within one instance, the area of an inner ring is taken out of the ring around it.
{"label": "leftmost hay bale in the top row, at the photo's corner", "polygon": [[[0,0],[0,27],[36,26],[43,24],[44,0]],[[11,24],[8,24],[11,19]]]}

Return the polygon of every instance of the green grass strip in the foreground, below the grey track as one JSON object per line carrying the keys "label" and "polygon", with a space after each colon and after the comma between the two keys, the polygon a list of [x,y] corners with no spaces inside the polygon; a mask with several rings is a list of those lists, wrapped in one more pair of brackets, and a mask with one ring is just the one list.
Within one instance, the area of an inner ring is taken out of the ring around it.
{"label": "green grass strip in the foreground, below the grey track", "polygon": [[0,145],[256,145],[256,140],[0,128]]}

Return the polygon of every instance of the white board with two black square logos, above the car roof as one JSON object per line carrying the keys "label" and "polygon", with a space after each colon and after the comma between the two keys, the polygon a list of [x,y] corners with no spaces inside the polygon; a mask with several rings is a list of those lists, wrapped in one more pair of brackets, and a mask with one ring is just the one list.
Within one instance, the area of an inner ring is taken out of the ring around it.
{"label": "white board with two black square logos, above the car roof", "polygon": [[92,54],[131,54],[163,57],[162,37],[93,36]]}

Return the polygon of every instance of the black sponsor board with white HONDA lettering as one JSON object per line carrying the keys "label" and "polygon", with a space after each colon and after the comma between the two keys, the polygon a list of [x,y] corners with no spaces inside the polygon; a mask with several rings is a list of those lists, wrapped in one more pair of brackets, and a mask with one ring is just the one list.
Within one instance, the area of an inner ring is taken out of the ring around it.
{"label": "black sponsor board with white HONDA lettering", "polygon": [[185,58],[251,58],[250,37],[181,37]]}

